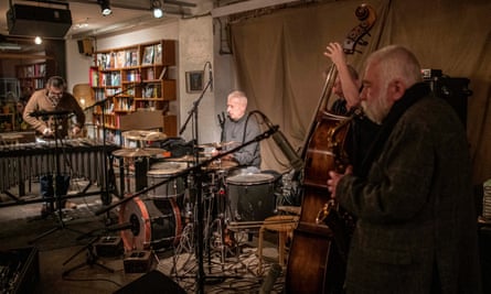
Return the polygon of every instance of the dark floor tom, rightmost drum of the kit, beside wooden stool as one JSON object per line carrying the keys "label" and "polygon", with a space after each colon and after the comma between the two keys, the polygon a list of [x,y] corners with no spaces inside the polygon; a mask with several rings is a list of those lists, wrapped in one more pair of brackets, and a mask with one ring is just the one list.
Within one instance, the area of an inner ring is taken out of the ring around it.
{"label": "dark floor tom, rightmost drum of the kit, beside wooden stool", "polygon": [[[260,221],[275,213],[275,182],[271,174],[238,174],[227,177],[231,209],[239,220]],[[236,208],[235,208],[236,207]]]}

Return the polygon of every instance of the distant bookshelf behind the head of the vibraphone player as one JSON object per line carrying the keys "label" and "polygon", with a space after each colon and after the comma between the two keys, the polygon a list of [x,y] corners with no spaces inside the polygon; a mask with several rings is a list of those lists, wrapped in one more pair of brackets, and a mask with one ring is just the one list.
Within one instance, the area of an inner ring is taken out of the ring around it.
{"label": "distant bookshelf behind the head of the vibraphone player", "polygon": [[15,74],[21,94],[30,96],[33,91],[44,88],[47,77],[54,75],[54,61],[52,59],[17,65]]}

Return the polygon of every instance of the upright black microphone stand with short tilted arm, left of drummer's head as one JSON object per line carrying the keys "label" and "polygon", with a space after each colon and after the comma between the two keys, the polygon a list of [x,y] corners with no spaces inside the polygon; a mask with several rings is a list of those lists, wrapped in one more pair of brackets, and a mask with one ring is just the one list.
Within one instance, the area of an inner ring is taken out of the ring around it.
{"label": "upright black microphone stand with short tilted arm, left of drummer's head", "polygon": [[[206,67],[206,65],[210,63],[205,63],[204,67]],[[211,64],[210,64],[211,66]],[[204,72],[204,70],[203,70]],[[201,100],[204,97],[204,94],[206,92],[206,90],[211,87],[213,80],[212,77],[210,76],[209,81],[206,83],[206,86],[204,87],[204,89],[201,91],[200,97],[198,98],[198,100],[195,100],[193,102],[193,107],[191,108],[191,110],[189,111],[189,116],[188,119],[185,120],[184,124],[182,126],[181,130],[179,131],[179,134],[181,135],[189,121],[191,120],[191,118],[193,118],[194,120],[194,128],[193,128],[193,132],[192,132],[192,137],[193,137],[193,146],[192,146],[192,152],[193,152],[193,156],[194,156],[194,165],[198,166],[203,166],[201,164],[199,164],[199,154],[198,151],[195,149],[195,145],[199,142],[199,129],[198,129],[198,107],[200,106]],[[210,161],[209,163],[211,163],[212,161]],[[204,293],[204,269],[203,269],[203,205],[202,205],[202,185],[203,185],[203,173],[201,171],[201,168],[193,168],[194,172],[194,188],[195,188],[195,199],[196,199],[196,240],[198,240],[198,248],[196,248],[196,255],[198,255],[198,264],[199,264],[199,269],[198,269],[198,293]]]}

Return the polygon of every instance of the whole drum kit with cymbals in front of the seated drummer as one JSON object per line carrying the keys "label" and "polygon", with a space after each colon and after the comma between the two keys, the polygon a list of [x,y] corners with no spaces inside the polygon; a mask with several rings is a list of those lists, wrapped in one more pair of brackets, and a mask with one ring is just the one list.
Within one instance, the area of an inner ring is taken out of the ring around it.
{"label": "whole drum kit with cymbals in front of the seated drummer", "polygon": [[[153,141],[166,138],[163,133],[128,131],[122,133],[125,140]],[[151,140],[150,140],[151,139]],[[198,221],[195,218],[196,203],[194,193],[201,188],[204,209],[204,231],[211,235],[211,224],[216,218],[225,224],[230,217],[230,205],[236,205],[242,220],[264,220],[271,216],[275,207],[275,188],[278,177],[271,174],[246,173],[236,162],[213,160],[206,149],[220,149],[231,143],[210,143],[199,145],[199,156],[184,155],[171,157],[166,150],[147,148],[120,149],[113,152],[116,157],[128,163],[147,161],[145,194],[131,197],[119,207],[119,221],[132,224],[130,230],[121,231],[125,250],[166,250],[179,246],[185,230],[183,227]],[[157,156],[161,156],[154,161]],[[196,160],[198,157],[198,160]],[[150,159],[153,162],[150,162]],[[201,166],[203,183],[194,185],[195,164]],[[127,164],[129,165],[129,164]],[[128,166],[126,165],[127,170]],[[194,192],[194,193],[193,193]],[[139,194],[137,190],[136,194]],[[231,202],[235,202],[234,204]],[[205,233],[205,239],[209,236]]]}

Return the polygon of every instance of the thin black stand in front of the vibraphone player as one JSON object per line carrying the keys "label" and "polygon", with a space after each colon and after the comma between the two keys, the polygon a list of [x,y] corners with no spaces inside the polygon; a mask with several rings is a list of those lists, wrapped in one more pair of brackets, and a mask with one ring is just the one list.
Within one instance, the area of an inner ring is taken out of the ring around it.
{"label": "thin black stand in front of the vibraphone player", "polygon": [[[56,211],[55,215],[58,218],[58,226],[41,233],[40,236],[35,237],[34,239],[30,240],[29,243],[34,243],[36,242],[39,239],[42,239],[57,230],[63,230],[63,229],[71,229],[67,228],[65,222],[63,221],[63,208],[62,208],[62,196],[66,196],[66,195],[61,195],[61,190],[60,190],[60,186],[62,184],[62,174],[61,174],[61,166],[60,166],[60,156],[62,154],[64,154],[63,152],[60,153],[60,148],[58,148],[58,140],[61,143],[61,138],[58,138],[58,120],[63,119],[64,117],[67,117],[68,115],[71,115],[73,111],[72,110],[55,110],[55,111],[35,111],[35,112],[31,112],[30,116],[31,117],[41,117],[42,120],[47,121],[50,119],[50,117],[53,118],[54,121],[54,165],[55,165],[55,175],[54,175],[54,181],[53,181],[53,188],[54,188],[54,202],[56,202]],[[53,175],[51,175],[53,176]],[[53,206],[53,202],[50,202],[50,205]],[[75,230],[75,229],[71,229],[72,231],[82,233],[82,231]]]}

